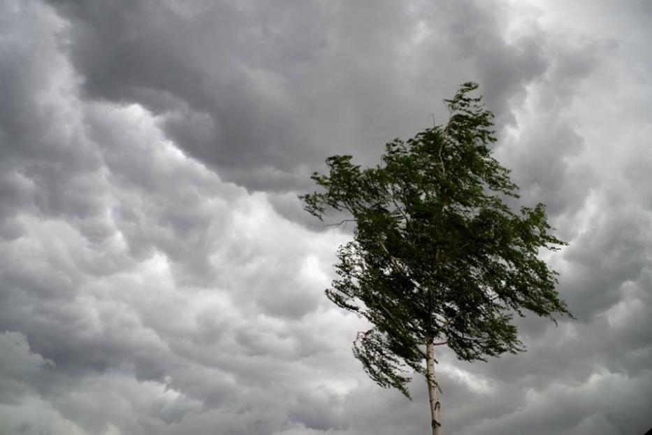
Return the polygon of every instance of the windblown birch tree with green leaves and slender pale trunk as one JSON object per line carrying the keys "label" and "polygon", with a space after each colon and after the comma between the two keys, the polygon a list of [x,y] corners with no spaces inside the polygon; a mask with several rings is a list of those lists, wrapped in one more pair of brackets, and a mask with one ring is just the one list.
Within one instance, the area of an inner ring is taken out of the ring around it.
{"label": "windblown birch tree with green leaves and slender pale trunk", "polygon": [[410,369],[425,376],[435,435],[436,346],[486,361],[524,350],[514,314],[571,316],[557,273],[538,257],[565,243],[551,234],[543,204],[519,213],[506,204],[518,187],[491,155],[493,114],[470,97],[476,89],[464,83],[444,100],[446,124],[387,144],[382,164],[361,169],[349,155],[328,157],[328,174],[311,177],[321,192],[300,197],[320,220],[333,210],[348,215],[339,224],[354,222],[326,295],[372,324],[353,350],[376,383],[410,399]]}

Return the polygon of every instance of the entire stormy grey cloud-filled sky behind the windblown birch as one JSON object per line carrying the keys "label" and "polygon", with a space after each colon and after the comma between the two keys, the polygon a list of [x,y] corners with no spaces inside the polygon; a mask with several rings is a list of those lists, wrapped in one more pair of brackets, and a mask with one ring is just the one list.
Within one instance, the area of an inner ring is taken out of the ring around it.
{"label": "entire stormy grey cloud-filled sky behind the windblown birch", "polygon": [[[577,318],[438,349],[447,435],[652,427],[652,3],[0,1],[0,434],[389,435],[338,245],[298,194],[330,155],[447,120],[474,80],[493,152],[570,245]],[[544,255],[544,254],[542,254]],[[441,349],[441,350],[440,350]]]}

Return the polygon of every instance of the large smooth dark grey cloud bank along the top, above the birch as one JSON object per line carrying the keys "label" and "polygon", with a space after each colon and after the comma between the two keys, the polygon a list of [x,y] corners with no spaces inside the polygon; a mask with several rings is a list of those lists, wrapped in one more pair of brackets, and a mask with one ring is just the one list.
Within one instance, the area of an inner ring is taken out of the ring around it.
{"label": "large smooth dark grey cloud bank along the top, above the birch", "polygon": [[488,3],[52,3],[90,97],[147,106],[189,155],[254,190],[303,190],[334,152],[375,162],[431,112],[443,122],[465,80],[511,119],[509,100],[553,62],[539,31],[505,41]]}

